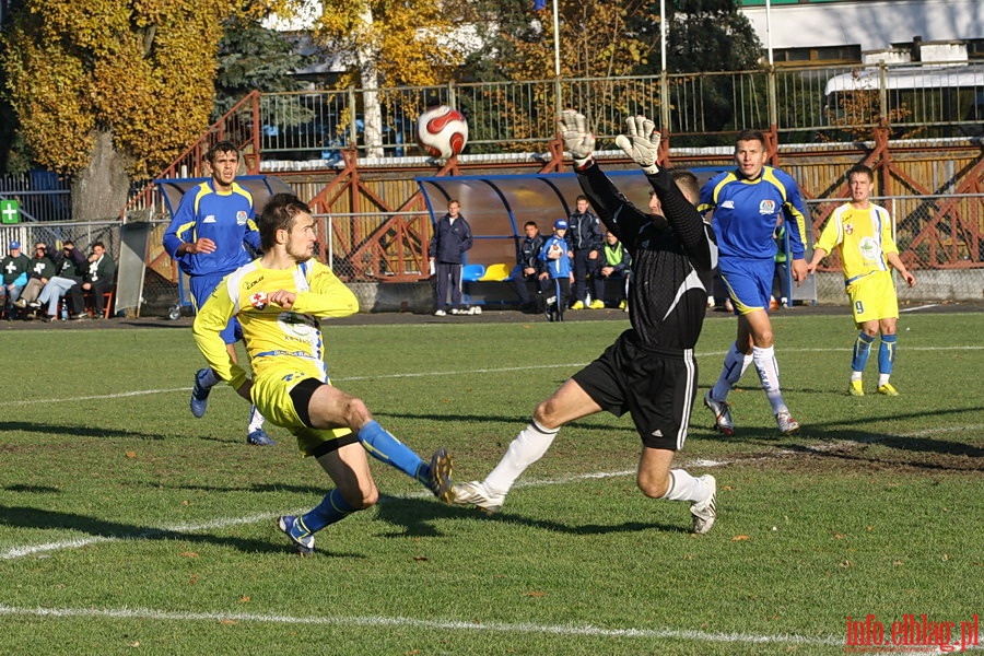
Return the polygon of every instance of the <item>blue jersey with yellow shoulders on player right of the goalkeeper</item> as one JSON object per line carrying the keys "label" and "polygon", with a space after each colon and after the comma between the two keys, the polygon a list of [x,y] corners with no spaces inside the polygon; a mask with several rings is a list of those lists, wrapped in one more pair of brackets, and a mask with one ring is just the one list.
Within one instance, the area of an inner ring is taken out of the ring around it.
{"label": "blue jersey with yellow shoulders on player right of the goalkeeper", "polygon": [[803,259],[807,243],[807,212],[796,181],[789,174],[764,166],[762,174],[746,179],[734,171],[711,178],[701,189],[698,211],[713,210],[711,224],[722,258],[773,259],[773,239],[780,215],[789,230],[793,259]]}

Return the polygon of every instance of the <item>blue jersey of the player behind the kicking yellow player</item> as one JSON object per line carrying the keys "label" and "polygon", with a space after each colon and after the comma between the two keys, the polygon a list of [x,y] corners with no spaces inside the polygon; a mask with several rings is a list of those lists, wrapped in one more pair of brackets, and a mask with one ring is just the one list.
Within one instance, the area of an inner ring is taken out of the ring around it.
{"label": "blue jersey of the player behind the kicking yellow player", "polygon": [[[176,255],[181,243],[201,237],[215,243],[213,253]],[[164,233],[164,249],[188,276],[235,271],[253,258],[246,244],[260,249],[253,195],[236,183],[229,191],[216,191],[206,180],[186,191]]]}

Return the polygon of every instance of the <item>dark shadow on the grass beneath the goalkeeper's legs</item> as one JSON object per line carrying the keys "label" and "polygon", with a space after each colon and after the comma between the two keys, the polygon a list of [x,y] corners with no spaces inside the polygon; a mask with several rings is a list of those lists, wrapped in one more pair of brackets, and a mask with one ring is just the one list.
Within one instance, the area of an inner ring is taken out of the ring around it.
{"label": "dark shadow on the grass beneath the goalkeeper's legs", "polygon": [[[538,519],[532,517],[524,517],[511,513],[496,514],[485,516],[477,508],[468,508],[464,506],[448,506],[437,501],[417,500],[396,496],[382,497],[376,506],[376,516],[378,519],[399,526],[402,528],[399,532],[383,534],[384,537],[406,538],[406,537],[443,537],[444,534],[438,531],[431,523],[438,517],[455,517],[473,519],[488,518],[489,522],[500,522],[514,526],[525,526],[538,528],[551,532],[566,534],[572,536],[601,536],[608,534],[623,532],[644,532],[648,530],[659,530],[663,532],[690,532],[690,528],[683,524],[669,525],[659,524],[657,522],[626,522],[622,524],[562,524],[548,519]],[[689,517],[689,516],[688,516]]]}

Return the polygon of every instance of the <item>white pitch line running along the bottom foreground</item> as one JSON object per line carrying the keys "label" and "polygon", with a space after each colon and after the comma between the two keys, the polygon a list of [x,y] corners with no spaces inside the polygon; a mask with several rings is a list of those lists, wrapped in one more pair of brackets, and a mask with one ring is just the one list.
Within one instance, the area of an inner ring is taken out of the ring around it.
{"label": "white pitch line running along the bottom foreground", "polygon": [[701,642],[746,643],[746,644],[801,644],[801,645],[842,645],[843,639],[811,637],[808,635],[777,634],[753,635],[748,633],[710,633],[706,631],[686,631],[671,629],[602,629],[591,625],[574,624],[532,624],[520,622],[454,622],[441,620],[418,620],[414,618],[382,616],[338,616],[338,617],[296,617],[283,614],[255,614],[243,612],[176,612],[152,610],[149,608],[17,608],[0,605],[0,614],[38,616],[38,617],[102,617],[117,619],[153,619],[177,621],[236,621],[276,624],[314,624],[314,625],[351,625],[351,626],[413,626],[438,629],[444,631],[490,631],[495,633],[549,633],[552,635],[587,635],[591,637],[642,637],[642,639],[681,639]]}

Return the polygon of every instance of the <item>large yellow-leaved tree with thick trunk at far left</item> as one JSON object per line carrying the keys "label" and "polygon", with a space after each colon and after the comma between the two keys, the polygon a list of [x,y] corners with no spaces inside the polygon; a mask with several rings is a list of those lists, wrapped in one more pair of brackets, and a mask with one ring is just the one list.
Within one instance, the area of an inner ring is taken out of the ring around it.
{"label": "large yellow-leaved tree with thick trunk at far left", "polygon": [[32,0],[4,45],[9,96],[38,164],[73,179],[73,216],[114,216],[209,125],[234,0]]}

